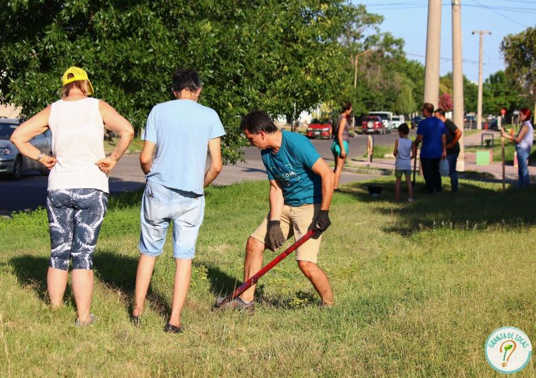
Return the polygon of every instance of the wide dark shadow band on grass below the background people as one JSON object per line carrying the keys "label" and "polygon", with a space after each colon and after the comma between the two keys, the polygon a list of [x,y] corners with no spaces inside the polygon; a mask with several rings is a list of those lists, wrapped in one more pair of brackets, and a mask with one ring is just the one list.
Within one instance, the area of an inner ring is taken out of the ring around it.
{"label": "wide dark shadow band on grass below the background people", "polygon": [[[375,202],[378,212],[394,217],[396,225],[384,228],[386,232],[406,235],[439,225],[482,230],[489,225],[520,227],[536,224],[535,186],[522,191],[510,188],[502,193],[479,184],[462,182],[460,192],[451,193],[449,179],[443,178],[443,192],[420,192],[423,184],[417,183],[414,191],[415,201],[395,205],[394,179],[392,182],[375,183],[383,187],[379,199],[368,194],[368,184],[370,182],[348,184],[341,191],[361,202]],[[403,186],[401,198],[406,197],[406,190]]]}

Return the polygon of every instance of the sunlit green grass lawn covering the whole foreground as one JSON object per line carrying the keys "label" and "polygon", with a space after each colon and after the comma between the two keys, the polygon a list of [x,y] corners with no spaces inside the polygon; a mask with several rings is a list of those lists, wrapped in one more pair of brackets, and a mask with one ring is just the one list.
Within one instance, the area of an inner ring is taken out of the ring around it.
{"label": "sunlit green grass lawn covering the whole foreground", "polygon": [[[175,272],[169,238],[143,325],[129,323],[139,192],[111,198],[95,260],[98,322],[82,329],[69,289],[62,309],[47,307],[45,211],[1,219],[0,375],[498,376],[484,357],[493,330],[516,326],[536,341],[536,188],[502,194],[500,184],[461,180],[457,195],[396,203],[392,177],[374,182],[381,199],[367,183],[333,199],[319,263],[335,307],[318,307],[291,255],[260,280],[252,314],[211,307],[239,283],[269,185],[209,188],[179,335],[162,331]],[[520,374],[535,376],[534,362]]]}

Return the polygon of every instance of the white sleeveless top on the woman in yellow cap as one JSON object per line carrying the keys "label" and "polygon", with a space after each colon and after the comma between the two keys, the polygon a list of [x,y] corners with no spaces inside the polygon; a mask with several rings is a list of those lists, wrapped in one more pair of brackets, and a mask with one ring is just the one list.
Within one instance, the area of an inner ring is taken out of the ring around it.
{"label": "white sleeveless top on the woman in yellow cap", "polygon": [[48,124],[52,155],[58,160],[50,171],[48,190],[85,188],[109,192],[107,175],[95,165],[105,157],[99,100],[56,101]]}

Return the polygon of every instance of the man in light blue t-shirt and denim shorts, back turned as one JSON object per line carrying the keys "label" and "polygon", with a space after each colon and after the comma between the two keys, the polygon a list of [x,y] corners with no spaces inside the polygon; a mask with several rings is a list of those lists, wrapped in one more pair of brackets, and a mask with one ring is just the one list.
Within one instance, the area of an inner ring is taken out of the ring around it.
{"label": "man in light blue t-shirt and denim shorts, back turned", "polygon": [[[181,310],[190,287],[195,244],[203,223],[203,188],[221,171],[220,137],[225,131],[216,111],[197,103],[201,81],[196,71],[175,71],[172,81],[177,99],[157,104],[150,111],[139,156],[147,184],[142,199],[142,254],[131,320],[139,324],[155,259],[164,252],[166,232],[173,221],[175,285],[171,315],[164,331],[178,333],[182,331]],[[211,163],[205,172],[207,148]]]}

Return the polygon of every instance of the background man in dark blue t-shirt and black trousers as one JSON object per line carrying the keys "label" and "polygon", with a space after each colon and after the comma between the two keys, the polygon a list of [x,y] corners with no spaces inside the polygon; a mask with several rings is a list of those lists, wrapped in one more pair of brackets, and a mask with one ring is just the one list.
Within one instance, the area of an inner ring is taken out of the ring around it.
{"label": "background man in dark blue t-shirt and black trousers", "polygon": [[441,175],[439,162],[447,157],[447,138],[445,124],[434,117],[434,105],[425,102],[423,105],[424,120],[418,122],[415,144],[421,146],[421,166],[426,188],[431,194],[441,191]]}

